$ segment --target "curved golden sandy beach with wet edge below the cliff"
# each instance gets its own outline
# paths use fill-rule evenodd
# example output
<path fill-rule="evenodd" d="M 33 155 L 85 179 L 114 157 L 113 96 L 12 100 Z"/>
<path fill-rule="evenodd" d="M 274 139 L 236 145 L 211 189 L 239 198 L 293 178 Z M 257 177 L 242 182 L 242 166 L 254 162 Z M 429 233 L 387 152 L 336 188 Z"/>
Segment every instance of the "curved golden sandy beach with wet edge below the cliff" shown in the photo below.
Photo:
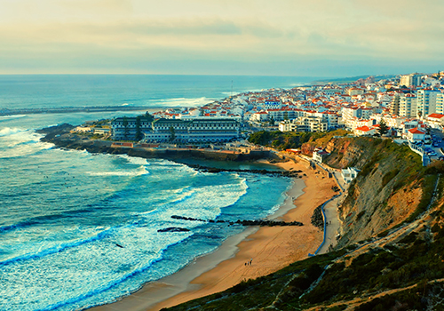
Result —
<path fill-rule="evenodd" d="M 301 221 L 303 227 L 250 227 L 241 235 L 228 238 L 218 251 L 194 260 L 178 273 L 147 283 L 140 291 L 115 303 L 91 310 L 141 311 L 176 306 L 225 291 L 243 280 L 269 275 L 316 251 L 322 242 L 322 232 L 313 227 L 310 218 L 317 206 L 335 195 L 331 189 L 336 185 L 335 180 L 322 178 L 324 175 L 315 173 L 303 161 L 275 165 L 304 171 L 306 176 L 294 180 L 287 192 L 288 199 L 270 218 Z M 251 259 L 251 265 L 246 266 Z"/>

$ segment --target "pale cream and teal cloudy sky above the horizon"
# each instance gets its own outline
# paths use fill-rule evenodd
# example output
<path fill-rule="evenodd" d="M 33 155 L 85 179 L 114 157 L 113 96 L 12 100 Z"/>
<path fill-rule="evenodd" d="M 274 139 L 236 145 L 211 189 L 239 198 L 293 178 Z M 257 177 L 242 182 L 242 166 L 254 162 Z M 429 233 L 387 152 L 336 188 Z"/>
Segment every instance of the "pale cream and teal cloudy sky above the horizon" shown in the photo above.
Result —
<path fill-rule="evenodd" d="M 0 74 L 439 70 L 442 0 L 0 0 Z"/>

